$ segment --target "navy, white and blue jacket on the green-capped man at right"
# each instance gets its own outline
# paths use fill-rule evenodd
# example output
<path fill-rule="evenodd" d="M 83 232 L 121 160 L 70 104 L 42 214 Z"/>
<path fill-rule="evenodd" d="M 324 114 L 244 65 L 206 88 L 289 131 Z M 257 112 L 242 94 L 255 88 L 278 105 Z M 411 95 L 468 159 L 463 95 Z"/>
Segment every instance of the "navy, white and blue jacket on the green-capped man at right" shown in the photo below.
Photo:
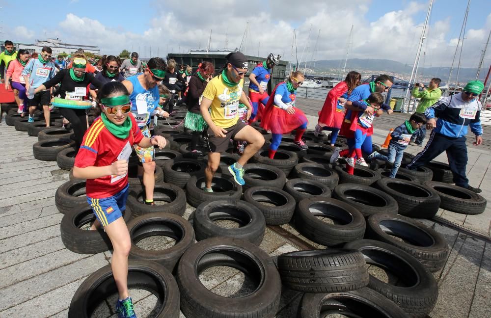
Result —
<path fill-rule="evenodd" d="M 477 99 L 464 102 L 462 93 L 443 97 L 425 111 L 427 119 L 438 117 L 436 132 L 452 138 L 460 138 L 467 134 L 467 126 L 475 135 L 482 135 L 482 105 Z M 472 118 L 473 117 L 473 118 Z"/>

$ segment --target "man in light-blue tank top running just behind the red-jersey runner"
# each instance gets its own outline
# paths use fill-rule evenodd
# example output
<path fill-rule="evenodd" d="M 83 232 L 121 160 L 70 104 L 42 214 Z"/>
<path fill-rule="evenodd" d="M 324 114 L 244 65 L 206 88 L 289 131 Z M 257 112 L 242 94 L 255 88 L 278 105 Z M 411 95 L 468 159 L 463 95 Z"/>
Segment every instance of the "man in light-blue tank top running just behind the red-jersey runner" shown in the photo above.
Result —
<path fill-rule="evenodd" d="M 151 137 L 148 125 L 152 112 L 159 107 L 159 83 L 165 77 L 166 65 L 162 58 L 152 57 L 143 73 L 131 76 L 123 80 L 128 89 L 132 103 L 131 112 L 136 124 L 145 137 Z M 154 205 L 153 191 L 155 187 L 155 158 L 154 147 L 140 148 L 134 146 L 136 155 L 143 166 L 143 185 L 145 186 L 145 204 Z M 141 168 L 138 167 L 138 176 L 141 176 Z"/>

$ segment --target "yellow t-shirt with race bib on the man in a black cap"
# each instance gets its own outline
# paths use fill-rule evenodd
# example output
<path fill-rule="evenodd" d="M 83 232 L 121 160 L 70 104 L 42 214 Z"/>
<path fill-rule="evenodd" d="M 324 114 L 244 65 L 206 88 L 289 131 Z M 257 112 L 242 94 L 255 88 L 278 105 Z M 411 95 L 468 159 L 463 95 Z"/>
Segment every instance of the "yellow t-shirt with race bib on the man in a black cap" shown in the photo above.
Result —
<path fill-rule="evenodd" d="M 237 123 L 239 120 L 237 110 L 239 109 L 239 100 L 244 93 L 243 87 L 244 79 L 241 79 L 239 85 L 228 87 L 223 83 L 221 75 L 208 82 L 203 96 L 212 101 L 211 117 L 215 125 L 229 128 Z"/>

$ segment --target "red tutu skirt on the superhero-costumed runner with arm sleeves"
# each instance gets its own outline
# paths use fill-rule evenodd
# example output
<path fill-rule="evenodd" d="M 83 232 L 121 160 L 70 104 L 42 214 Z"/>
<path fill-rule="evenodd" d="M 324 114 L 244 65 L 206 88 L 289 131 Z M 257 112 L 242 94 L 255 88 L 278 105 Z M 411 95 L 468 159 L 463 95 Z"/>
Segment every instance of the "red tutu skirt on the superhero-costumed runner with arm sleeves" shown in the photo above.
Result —
<path fill-rule="evenodd" d="M 263 113 L 261 127 L 272 133 L 288 133 L 299 126 L 308 123 L 307 117 L 300 108 L 294 108 L 295 114 L 291 115 L 279 107 L 273 106 Z"/>

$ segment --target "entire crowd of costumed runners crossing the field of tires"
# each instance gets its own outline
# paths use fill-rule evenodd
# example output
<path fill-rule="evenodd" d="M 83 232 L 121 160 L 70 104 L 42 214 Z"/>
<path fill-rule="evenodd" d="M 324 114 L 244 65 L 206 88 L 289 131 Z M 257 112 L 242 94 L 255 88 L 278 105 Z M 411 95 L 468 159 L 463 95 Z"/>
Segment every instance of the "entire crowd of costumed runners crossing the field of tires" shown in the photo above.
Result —
<path fill-rule="evenodd" d="M 73 175 L 87 179 L 87 201 L 97 217 L 91 230 L 103 226 L 114 248 L 111 266 L 119 292 L 119 317 L 136 317 L 127 288 L 131 241 L 121 213 L 129 191 L 128 159 L 134 150 L 141 162 L 139 175 L 145 187 L 145 203 L 153 205 L 154 146 L 162 148 L 166 144 L 164 137 L 151 133 L 154 116 L 169 116 L 176 104 L 188 107 L 184 126 L 191 132 L 191 152 L 199 152 L 197 145 L 203 139 L 209 148 L 203 191 L 213 191 L 220 154 L 229 148 L 231 140 L 236 141 L 241 157 L 228 170 L 238 184 L 244 185 L 243 166 L 265 143 L 263 134 L 251 125 L 255 121 L 272 133 L 270 159 L 274 159 L 282 135 L 292 131 L 294 144 L 308 149 L 302 140 L 307 116 L 296 105 L 297 88 L 304 75 L 292 72 L 271 94 L 267 92 L 280 58 L 271 53 L 250 69 L 246 56 L 233 52 L 226 56 L 224 65 L 204 61 L 193 69 L 160 57 L 143 63 L 135 52 L 124 60 L 114 55 L 88 59 L 83 50 L 65 59 L 53 56 L 49 47 L 31 54 L 15 51 L 13 43 L 5 41 L 5 51 L 0 54 L 1 80 L 5 89 L 14 90 L 21 116 L 28 116 L 31 122 L 34 111 L 41 107 L 49 127 L 52 98 L 67 101 L 65 106 L 57 106 L 74 131 L 78 154 Z M 244 76 L 249 71 L 246 94 Z M 428 87 L 414 87 L 411 94 L 421 99 L 420 105 L 409 120 L 395 123 L 398 126 L 391 134 L 387 156 L 372 151 L 371 137 L 376 118 L 383 112 L 392 113 L 382 96 L 393 84 L 386 75 L 361 84 L 361 75 L 350 72 L 328 92 L 315 134 L 330 131 L 331 146 L 338 134 L 346 136 L 349 148 L 335 148 L 331 162 L 344 158 L 348 173 L 353 174 L 356 165 L 367 166 L 365 159 L 381 159 L 393 164 L 390 177 L 394 178 L 408 145 L 423 146 L 426 127 L 432 131 L 429 140 L 407 168 L 417 169 L 446 151 L 455 184 L 478 193 L 481 190 L 470 186 L 465 176 L 465 135 L 470 127 L 475 134 L 474 144 L 482 143 L 478 96 L 484 85 L 473 80 L 461 93 L 441 98 L 439 83 L 440 79 L 435 78 Z M 74 107 L 74 101 L 81 103 Z M 90 103 L 82 103 L 86 101 Z M 100 114 L 90 127 L 88 107 Z"/>

